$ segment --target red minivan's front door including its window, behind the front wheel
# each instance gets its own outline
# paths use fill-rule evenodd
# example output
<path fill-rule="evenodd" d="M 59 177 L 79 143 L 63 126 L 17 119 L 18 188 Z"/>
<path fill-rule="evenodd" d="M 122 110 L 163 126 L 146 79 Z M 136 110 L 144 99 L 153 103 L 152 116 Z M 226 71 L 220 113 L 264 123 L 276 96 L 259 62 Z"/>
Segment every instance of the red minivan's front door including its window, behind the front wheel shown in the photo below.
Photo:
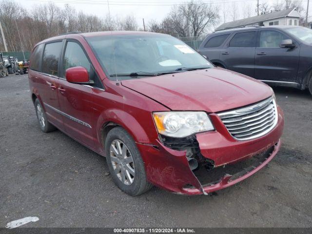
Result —
<path fill-rule="evenodd" d="M 91 74 L 92 66 L 84 51 L 75 41 L 67 41 L 62 59 L 62 77 L 59 79 L 59 105 L 64 113 L 65 131 L 81 143 L 94 147 L 96 136 L 93 129 L 93 88 L 89 85 L 69 83 L 65 71 L 82 66 Z"/>

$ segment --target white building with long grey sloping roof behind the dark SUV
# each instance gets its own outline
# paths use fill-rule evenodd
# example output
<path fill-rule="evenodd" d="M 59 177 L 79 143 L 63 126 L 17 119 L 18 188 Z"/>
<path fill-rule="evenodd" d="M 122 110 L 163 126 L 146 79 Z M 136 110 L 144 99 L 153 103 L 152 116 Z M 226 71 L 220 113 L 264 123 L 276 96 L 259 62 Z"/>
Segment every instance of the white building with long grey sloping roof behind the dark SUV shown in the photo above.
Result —
<path fill-rule="evenodd" d="M 246 26 L 271 26 L 271 25 L 299 25 L 300 14 L 296 8 L 287 9 L 283 11 L 275 11 L 265 15 L 254 16 L 243 20 L 235 20 L 221 24 L 215 31 L 240 28 Z"/>

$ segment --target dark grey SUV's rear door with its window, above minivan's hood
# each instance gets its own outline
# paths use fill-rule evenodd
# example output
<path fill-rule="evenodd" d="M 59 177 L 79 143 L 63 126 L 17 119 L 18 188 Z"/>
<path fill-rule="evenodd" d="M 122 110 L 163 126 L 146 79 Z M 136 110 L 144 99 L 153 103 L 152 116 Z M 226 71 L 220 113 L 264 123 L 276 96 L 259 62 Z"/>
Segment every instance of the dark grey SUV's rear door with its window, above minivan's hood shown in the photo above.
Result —
<path fill-rule="evenodd" d="M 256 31 L 240 32 L 230 39 L 220 55 L 227 69 L 254 77 L 256 35 Z"/>

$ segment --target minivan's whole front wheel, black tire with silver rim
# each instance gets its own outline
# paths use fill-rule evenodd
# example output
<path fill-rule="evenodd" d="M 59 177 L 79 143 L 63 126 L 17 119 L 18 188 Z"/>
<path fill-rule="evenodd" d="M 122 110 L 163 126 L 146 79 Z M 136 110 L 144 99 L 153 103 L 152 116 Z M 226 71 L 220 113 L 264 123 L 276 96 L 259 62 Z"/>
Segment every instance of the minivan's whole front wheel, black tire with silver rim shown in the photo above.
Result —
<path fill-rule="evenodd" d="M 118 142 L 120 143 L 120 148 L 118 147 Z M 115 146 L 117 151 L 112 148 L 112 145 Z M 122 151 L 124 150 L 124 156 L 116 154 L 118 153 L 118 148 L 122 149 Z M 153 187 L 146 179 L 144 162 L 137 145 L 126 130 L 121 127 L 115 127 L 108 132 L 105 140 L 105 153 L 110 174 L 121 191 L 136 196 L 145 193 Z"/>

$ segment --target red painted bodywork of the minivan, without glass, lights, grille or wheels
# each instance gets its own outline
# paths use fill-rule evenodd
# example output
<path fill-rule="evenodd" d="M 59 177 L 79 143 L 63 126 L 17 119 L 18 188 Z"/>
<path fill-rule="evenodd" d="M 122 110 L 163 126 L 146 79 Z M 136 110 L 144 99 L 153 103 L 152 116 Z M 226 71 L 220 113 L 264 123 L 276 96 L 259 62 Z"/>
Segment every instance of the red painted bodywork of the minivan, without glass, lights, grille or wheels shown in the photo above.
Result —
<path fill-rule="evenodd" d="M 112 34 L 123 33 L 133 32 Z M 141 33 L 145 32 L 133 34 Z M 272 96 L 273 92 L 269 86 L 253 78 L 219 68 L 180 72 L 175 76 L 163 75 L 124 80 L 117 85 L 116 81 L 106 77 L 84 39 L 95 35 L 111 35 L 111 33 L 63 35 L 53 39 L 77 40 L 92 62 L 105 90 L 69 83 L 65 79 L 48 77 L 29 70 L 31 92 L 39 98 L 42 105 L 47 103 L 91 126 L 88 128 L 74 122 L 43 105 L 48 120 L 61 131 L 104 156 L 103 126 L 110 122 L 116 123 L 137 142 L 150 182 L 169 191 L 189 195 L 201 194 L 203 191 L 208 193 L 231 186 L 253 175 L 276 155 L 284 125 L 280 108 L 278 108 L 278 123 L 270 133 L 246 141 L 237 141 L 231 137 L 215 114 L 218 111 L 245 106 Z M 43 42 L 50 40 L 52 39 Z M 68 69 L 66 79 L 71 82 L 78 82 L 78 79 L 85 82 L 86 77 L 82 70 Z M 247 175 L 230 182 L 224 178 L 219 184 L 202 188 L 189 168 L 185 152 L 169 149 L 159 141 L 152 112 L 170 110 L 201 110 L 210 113 L 215 131 L 196 134 L 196 137 L 202 155 L 215 160 L 216 165 L 234 162 L 273 146 L 277 142 L 278 144 L 265 163 Z M 157 146 L 157 149 L 153 146 Z M 192 184 L 195 189 L 183 189 L 186 184 Z"/>

